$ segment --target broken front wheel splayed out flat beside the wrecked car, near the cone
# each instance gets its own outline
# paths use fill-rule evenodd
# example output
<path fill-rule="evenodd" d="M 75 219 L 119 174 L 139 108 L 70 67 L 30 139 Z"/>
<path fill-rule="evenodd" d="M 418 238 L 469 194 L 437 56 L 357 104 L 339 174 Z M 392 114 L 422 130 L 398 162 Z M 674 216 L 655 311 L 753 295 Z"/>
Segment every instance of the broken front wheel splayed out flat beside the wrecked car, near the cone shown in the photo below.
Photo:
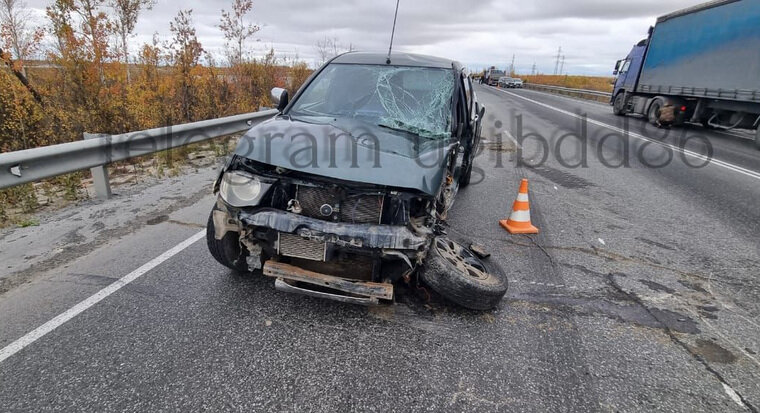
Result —
<path fill-rule="evenodd" d="M 433 240 L 420 278 L 447 300 L 472 310 L 496 307 L 509 287 L 496 263 L 480 260 L 446 237 Z"/>

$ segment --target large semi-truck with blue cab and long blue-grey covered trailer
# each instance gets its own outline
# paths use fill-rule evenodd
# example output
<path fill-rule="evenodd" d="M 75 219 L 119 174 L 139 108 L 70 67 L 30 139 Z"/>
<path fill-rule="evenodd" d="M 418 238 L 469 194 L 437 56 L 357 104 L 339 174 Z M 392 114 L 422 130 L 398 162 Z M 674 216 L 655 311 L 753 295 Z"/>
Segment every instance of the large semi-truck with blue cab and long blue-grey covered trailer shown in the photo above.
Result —
<path fill-rule="evenodd" d="M 610 104 L 660 126 L 756 130 L 760 149 L 760 1 L 718 0 L 657 19 L 615 65 Z M 667 109 L 667 110 L 664 110 Z"/>

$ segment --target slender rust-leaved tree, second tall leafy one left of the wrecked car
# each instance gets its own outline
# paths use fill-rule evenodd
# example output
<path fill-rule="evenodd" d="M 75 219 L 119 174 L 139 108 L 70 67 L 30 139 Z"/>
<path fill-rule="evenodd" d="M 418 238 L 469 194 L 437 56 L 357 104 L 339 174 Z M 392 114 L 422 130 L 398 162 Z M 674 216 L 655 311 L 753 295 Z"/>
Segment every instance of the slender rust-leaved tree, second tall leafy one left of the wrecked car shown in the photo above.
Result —
<path fill-rule="evenodd" d="M 169 23 L 172 33 L 170 55 L 176 71 L 178 101 L 182 119 L 190 122 L 193 119 L 194 97 L 192 70 L 198 66 L 203 46 L 195 34 L 192 20 L 192 9 L 181 10 L 174 21 Z"/>

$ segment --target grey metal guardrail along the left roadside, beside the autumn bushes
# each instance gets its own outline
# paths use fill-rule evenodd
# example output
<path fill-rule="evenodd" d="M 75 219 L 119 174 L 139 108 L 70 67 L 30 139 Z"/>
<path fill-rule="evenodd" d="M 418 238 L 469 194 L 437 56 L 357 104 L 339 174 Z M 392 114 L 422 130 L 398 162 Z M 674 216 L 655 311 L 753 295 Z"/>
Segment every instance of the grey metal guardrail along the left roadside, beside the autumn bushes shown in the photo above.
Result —
<path fill-rule="evenodd" d="M 95 192 L 109 198 L 106 165 L 244 132 L 277 110 L 148 129 L 120 135 L 84 134 L 84 140 L 0 154 L 0 189 L 91 168 Z"/>

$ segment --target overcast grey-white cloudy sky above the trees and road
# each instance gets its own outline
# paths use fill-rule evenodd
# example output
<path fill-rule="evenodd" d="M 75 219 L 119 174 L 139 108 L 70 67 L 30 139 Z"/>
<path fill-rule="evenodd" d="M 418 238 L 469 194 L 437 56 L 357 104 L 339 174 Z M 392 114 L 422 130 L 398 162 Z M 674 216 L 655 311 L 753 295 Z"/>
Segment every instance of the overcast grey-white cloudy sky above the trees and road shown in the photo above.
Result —
<path fill-rule="evenodd" d="M 44 23 L 52 0 L 27 0 Z M 535 63 L 553 73 L 562 47 L 565 72 L 608 75 L 617 59 L 646 36 L 659 15 L 693 6 L 700 0 L 401 0 L 394 49 L 449 57 L 471 70 L 508 67 L 515 56 L 520 73 Z M 169 21 L 182 9 L 193 20 L 204 48 L 218 59 L 224 51 L 219 31 L 229 1 L 158 0 L 140 18 L 133 48 L 153 33 L 169 39 Z M 261 55 L 274 47 L 281 57 L 316 61 L 316 43 L 324 38 L 353 44 L 359 50 L 387 50 L 394 0 L 255 0 L 249 15 L 261 26 L 249 48 Z"/>

